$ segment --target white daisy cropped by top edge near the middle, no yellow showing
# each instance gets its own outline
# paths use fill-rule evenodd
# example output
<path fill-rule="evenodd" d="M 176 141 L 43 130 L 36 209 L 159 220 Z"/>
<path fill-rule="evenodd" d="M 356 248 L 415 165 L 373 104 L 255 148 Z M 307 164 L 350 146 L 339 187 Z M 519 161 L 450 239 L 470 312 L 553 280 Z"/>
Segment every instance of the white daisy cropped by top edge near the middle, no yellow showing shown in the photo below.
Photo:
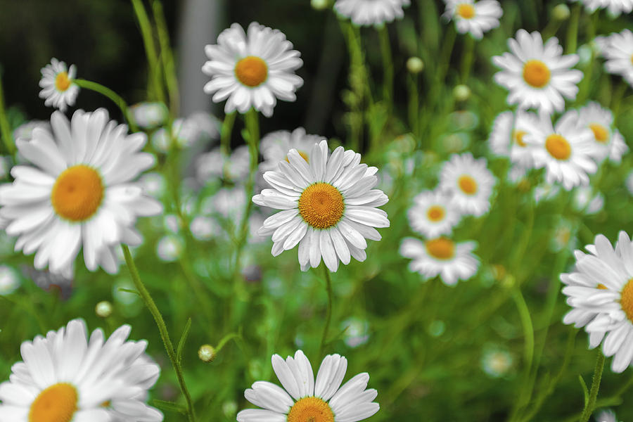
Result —
<path fill-rule="evenodd" d="M 334 10 L 356 25 L 381 25 L 404 17 L 410 0 L 336 0 Z"/>

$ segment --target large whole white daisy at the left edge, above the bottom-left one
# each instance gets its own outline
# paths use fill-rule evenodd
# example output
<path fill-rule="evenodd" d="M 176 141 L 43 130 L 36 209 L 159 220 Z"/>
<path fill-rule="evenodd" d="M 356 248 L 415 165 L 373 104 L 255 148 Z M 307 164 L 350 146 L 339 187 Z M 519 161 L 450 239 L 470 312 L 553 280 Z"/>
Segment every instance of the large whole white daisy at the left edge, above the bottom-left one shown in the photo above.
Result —
<path fill-rule="evenodd" d="M 0 186 L 6 233 L 18 237 L 15 250 L 35 252 L 37 269 L 67 272 L 83 245 L 89 270 L 115 273 L 115 247 L 141 243 L 136 217 L 162 211 L 133 182 L 154 165 L 153 155 L 139 152 L 146 135 L 128 135 L 105 109 L 77 110 L 72 122 L 56 111 L 51 125 L 52 132 L 34 129 L 31 141 L 16 142 L 33 166 L 13 167 L 13 183 Z"/>

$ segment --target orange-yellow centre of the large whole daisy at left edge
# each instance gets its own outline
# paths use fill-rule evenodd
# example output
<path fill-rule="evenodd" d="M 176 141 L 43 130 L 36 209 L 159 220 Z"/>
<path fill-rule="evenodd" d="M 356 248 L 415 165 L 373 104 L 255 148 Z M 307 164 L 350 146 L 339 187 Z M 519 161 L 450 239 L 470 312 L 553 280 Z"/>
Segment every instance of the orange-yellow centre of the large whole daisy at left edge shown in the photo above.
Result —
<path fill-rule="evenodd" d="M 72 222 L 92 217 L 102 200 L 101 176 L 92 167 L 82 164 L 64 170 L 51 192 L 51 203 L 57 215 Z"/>

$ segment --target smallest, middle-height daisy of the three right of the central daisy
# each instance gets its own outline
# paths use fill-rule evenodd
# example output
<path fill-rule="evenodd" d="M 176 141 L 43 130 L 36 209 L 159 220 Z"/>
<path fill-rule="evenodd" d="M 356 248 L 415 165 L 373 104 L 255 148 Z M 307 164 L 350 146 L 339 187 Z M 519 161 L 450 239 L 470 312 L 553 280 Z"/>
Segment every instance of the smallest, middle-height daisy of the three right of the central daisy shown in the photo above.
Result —
<path fill-rule="evenodd" d="M 440 234 L 451 234 L 461 219 L 461 213 L 452 205 L 449 196 L 436 190 L 419 193 L 407 217 L 411 229 L 428 238 L 435 238 Z"/>

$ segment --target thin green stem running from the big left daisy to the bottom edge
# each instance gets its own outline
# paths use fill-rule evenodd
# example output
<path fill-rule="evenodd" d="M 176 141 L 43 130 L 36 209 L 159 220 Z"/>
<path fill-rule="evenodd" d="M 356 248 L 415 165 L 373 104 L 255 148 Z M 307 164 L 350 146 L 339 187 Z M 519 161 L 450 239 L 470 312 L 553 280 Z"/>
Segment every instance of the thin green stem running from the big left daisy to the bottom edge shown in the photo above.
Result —
<path fill-rule="evenodd" d="M 127 245 L 121 245 L 123 250 L 123 256 L 125 257 L 125 263 L 127 264 L 127 268 L 129 269 L 129 274 L 132 276 L 132 281 L 134 281 L 134 286 L 136 286 L 136 290 L 138 290 L 141 299 L 143 299 L 143 303 L 145 303 L 147 309 L 149 309 L 150 313 L 154 317 L 154 321 L 156 322 L 156 326 L 158 326 L 158 331 L 160 332 L 160 338 L 162 338 L 162 343 L 165 345 L 165 350 L 167 351 L 167 355 L 170 357 L 170 361 L 172 362 L 172 366 L 174 367 L 174 371 L 176 371 L 176 377 L 178 378 L 178 383 L 180 385 L 180 390 L 185 397 L 187 402 L 187 416 L 189 422 L 196 421 L 196 411 L 193 409 L 193 402 L 191 401 L 191 395 L 187 390 L 187 385 L 184 381 L 184 376 L 182 373 L 182 368 L 178 363 L 176 357 L 176 350 L 174 349 L 174 345 L 172 344 L 172 340 L 170 338 L 170 333 L 167 331 L 167 325 L 165 325 L 165 320 L 162 319 L 162 314 L 158 310 L 154 300 L 152 299 L 149 291 L 141 281 L 141 276 L 139 276 L 139 270 L 136 269 L 136 264 L 134 264 L 134 259 L 132 259 L 132 255 L 129 253 L 129 248 Z"/>

